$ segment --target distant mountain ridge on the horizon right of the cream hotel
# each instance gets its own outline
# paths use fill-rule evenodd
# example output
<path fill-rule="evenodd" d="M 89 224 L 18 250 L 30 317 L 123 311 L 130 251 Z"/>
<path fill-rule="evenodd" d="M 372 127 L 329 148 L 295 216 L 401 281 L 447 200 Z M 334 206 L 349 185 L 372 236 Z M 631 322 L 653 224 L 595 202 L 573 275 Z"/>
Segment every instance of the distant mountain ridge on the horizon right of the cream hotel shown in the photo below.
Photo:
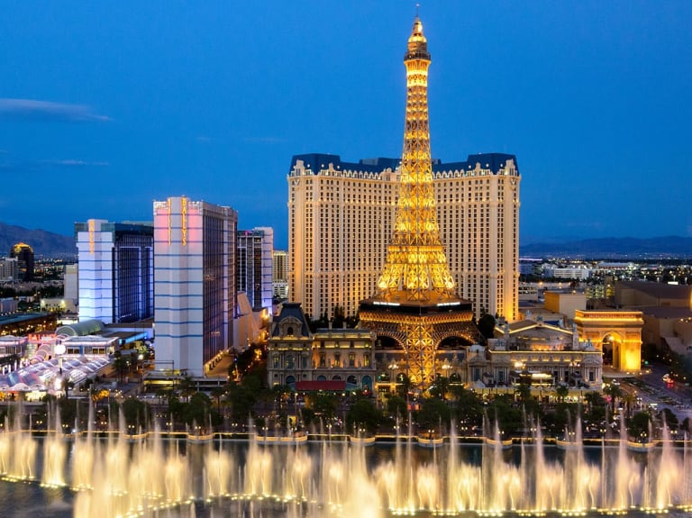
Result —
<path fill-rule="evenodd" d="M 521 256 L 588 259 L 692 258 L 692 238 L 597 238 L 565 242 L 533 242 L 519 245 Z"/>

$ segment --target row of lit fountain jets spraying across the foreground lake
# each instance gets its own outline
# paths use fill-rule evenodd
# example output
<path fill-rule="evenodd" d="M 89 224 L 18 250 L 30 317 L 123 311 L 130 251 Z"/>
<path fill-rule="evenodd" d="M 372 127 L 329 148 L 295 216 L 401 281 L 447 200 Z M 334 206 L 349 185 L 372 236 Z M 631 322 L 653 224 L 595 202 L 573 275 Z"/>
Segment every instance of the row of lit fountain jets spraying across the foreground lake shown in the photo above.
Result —
<path fill-rule="evenodd" d="M 561 451 L 543 444 L 540 427 L 512 450 L 499 436 L 470 447 L 453 433 L 444 447 L 423 450 L 404 439 L 366 449 L 330 441 L 186 444 L 159 432 L 135 443 L 117 432 L 32 438 L 18 426 L 6 423 L 0 432 L 2 484 L 71 487 L 77 518 L 166 516 L 171 509 L 187 516 L 196 509 L 190 503 L 214 516 L 683 515 L 692 501 L 692 459 L 669 435 L 645 453 L 622 439 L 587 450 L 578 435 Z M 480 461 L 465 459 L 469 451 Z"/>

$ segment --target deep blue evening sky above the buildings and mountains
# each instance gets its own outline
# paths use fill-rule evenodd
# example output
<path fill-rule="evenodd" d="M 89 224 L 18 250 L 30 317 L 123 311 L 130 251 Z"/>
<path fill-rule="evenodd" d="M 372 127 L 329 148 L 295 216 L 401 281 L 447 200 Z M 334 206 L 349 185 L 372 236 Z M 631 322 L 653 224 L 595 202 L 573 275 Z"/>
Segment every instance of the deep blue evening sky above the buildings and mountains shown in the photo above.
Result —
<path fill-rule="evenodd" d="M 188 195 L 287 246 L 291 157 L 401 154 L 414 2 L 5 1 L 0 221 Z M 517 156 L 521 242 L 692 236 L 692 2 L 422 2 L 432 154 Z"/>

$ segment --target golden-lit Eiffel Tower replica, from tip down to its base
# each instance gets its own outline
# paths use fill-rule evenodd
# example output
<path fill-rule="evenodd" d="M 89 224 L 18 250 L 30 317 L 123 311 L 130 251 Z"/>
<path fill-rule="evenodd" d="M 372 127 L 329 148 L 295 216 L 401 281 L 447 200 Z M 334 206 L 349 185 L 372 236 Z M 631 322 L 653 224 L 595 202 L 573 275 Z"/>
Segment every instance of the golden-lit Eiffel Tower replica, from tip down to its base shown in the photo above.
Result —
<path fill-rule="evenodd" d="M 437 222 L 428 123 L 430 61 L 423 23 L 416 16 L 404 57 L 406 120 L 394 235 L 377 293 L 359 308 L 360 326 L 403 348 L 409 380 L 422 389 L 439 373 L 435 356 L 443 340 L 478 340 L 472 304 L 455 292 Z"/>

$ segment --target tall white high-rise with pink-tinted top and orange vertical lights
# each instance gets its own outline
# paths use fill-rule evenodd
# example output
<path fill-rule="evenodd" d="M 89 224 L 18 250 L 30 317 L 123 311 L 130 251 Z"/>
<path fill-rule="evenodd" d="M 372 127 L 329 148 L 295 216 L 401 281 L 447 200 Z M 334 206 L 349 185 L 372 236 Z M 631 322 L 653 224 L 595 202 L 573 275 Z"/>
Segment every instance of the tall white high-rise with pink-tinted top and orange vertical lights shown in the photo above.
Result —
<path fill-rule="evenodd" d="M 158 368 L 204 376 L 232 347 L 238 214 L 186 196 L 154 202 Z"/>

